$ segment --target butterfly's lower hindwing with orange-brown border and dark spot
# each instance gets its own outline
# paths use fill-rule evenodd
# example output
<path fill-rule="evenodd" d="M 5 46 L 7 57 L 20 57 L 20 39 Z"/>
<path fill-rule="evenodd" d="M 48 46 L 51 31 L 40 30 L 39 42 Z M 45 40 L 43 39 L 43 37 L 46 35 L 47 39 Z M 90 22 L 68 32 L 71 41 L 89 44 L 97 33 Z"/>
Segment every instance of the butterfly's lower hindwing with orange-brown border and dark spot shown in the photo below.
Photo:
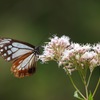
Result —
<path fill-rule="evenodd" d="M 27 53 L 13 62 L 11 71 L 15 77 L 22 78 L 32 75 L 36 70 L 36 56 L 32 53 Z"/>

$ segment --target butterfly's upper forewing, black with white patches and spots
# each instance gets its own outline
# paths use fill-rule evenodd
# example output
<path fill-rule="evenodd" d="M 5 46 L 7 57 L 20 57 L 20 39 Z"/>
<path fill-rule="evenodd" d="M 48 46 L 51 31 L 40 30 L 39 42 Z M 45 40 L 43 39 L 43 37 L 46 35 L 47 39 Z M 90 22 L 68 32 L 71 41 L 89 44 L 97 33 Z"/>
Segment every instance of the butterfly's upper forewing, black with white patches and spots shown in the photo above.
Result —
<path fill-rule="evenodd" d="M 15 60 L 26 53 L 33 52 L 34 49 L 35 46 L 25 42 L 7 38 L 0 39 L 0 54 L 6 61 Z"/>

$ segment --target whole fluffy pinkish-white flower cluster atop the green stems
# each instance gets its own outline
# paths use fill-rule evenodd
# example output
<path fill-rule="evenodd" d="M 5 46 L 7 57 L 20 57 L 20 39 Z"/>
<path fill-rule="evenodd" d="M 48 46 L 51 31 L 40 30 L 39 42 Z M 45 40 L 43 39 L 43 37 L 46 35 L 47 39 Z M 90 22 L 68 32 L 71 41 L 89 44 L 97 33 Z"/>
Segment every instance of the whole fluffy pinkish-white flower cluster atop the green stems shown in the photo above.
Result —
<path fill-rule="evenodd" d="M 100 65 L 100 44 L 79 44 L 70 41 L 67 36 L 53 36 L 50 42 L 43 46 L 43 54 L 39 56 L 42 62 L 54 60 L 59 66 L 71 73 L 74 70 L 87 69 L 90 72 Z"/>

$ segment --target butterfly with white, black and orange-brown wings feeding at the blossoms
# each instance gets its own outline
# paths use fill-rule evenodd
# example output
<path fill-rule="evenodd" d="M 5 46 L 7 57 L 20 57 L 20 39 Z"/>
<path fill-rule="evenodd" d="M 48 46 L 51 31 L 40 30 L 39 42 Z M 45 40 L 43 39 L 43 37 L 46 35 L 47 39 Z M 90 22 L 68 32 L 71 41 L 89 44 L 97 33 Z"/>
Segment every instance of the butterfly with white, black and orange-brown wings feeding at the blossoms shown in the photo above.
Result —
<path fill-rule="evenodd" d="M 0 38 L 0 55 L 6 61 L 12 61 L 11 71 L 15 77 L 30 76 L 36 71 L 39 46 L 10 38 Z"/>

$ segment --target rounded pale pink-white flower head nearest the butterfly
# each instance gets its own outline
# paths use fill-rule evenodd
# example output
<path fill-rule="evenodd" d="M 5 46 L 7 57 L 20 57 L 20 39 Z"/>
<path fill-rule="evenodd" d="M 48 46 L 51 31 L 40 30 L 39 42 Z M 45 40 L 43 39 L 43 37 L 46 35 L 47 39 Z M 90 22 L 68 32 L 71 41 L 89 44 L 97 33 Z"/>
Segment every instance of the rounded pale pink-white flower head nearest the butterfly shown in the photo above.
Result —
<path fill-rule="evenodd" d="M 70 46 L 69 37 L 67 36 L 62 36 L 61 38 L 54 36 L 50 40 L 43 46 L 43 54 L 39 57 L 42 62 L 49 60 L 59 61 L 64 50 Z"/>

